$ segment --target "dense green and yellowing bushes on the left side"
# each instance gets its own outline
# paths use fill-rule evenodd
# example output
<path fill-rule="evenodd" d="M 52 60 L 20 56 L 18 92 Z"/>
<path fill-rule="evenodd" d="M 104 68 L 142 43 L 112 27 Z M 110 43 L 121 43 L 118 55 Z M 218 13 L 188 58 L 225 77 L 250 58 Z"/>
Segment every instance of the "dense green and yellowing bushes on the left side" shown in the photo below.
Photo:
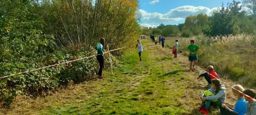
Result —
<path fill-rule="evenodd" d="M 101 37 L 110 49 L 124 47 L 137 38 L 138 7 L 138 0 L 1 0 L 0 76 L 94 55 Z M 20 94 L 48 95 L 88 80 L 97 66 L 89 58 L 2 78 L 0 102 L 10 104 Z"/>

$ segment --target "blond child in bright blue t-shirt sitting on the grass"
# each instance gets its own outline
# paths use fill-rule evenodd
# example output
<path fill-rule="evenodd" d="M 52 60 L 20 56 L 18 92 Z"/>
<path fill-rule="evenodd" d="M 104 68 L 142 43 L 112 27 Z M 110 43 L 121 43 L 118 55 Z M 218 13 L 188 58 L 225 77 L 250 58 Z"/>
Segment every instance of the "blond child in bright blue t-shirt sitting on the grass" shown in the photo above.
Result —
<path fill-rule="evenodd" d="M 241 85 L 235 85 L 233 88 L 243 92 L 244 88 Z M 225 108 L 226 111 L 221 113 L 221 115 L 245 115 L 246 114 L 246 105 L 247 101 L 244 98 L 244 95 L 242 93 L 239 93 L 237 90 L 232 88 L 232 92 L 237 97 L 237 102 L 235 105 L 230 104 L 229 102 L 226 102 L 225 104 L 222 104 L 222 108 Z M 230 108 L 233 107 L 234 109 Z"/>

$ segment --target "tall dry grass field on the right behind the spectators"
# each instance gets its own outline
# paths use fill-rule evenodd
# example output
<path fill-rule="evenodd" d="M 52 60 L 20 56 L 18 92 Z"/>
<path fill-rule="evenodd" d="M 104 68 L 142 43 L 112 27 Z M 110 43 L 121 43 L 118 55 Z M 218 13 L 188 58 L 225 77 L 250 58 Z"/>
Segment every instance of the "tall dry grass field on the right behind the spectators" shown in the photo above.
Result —
<path fill-rule="evenodd" d="M 174 44 L 176 38 L 168 38 L 166 44 Z M 256 88 L 256 38 L 249 35 L 229 37 L 179 38 L 179 51 L 188 55 L 189 40 L 196 40 L 200 46 L 199 64 L 205 68 L 213 65 L 222 78 L 229 78 L 238 84 Z"/>

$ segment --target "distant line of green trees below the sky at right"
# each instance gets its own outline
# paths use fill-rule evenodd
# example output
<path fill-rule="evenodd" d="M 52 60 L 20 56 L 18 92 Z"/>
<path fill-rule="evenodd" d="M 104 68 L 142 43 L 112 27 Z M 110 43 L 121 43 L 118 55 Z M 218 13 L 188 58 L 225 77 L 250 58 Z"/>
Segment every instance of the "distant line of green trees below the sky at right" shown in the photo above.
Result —
<path fill-rule="evenodd" d="M 232 3 L 218 7 L 210 16 L 200 13 L 196 16 L 187 16 L 183 24 L 164 25 L 156 28 L 141 28 L 141 34 L 161 34 L 168 37 L 181 35 L 190 37 L 204 34 L 208 37 L 229 36 L 241 33 L 256 33 L 256 0 L 233 0 Z M 242 9 L 245 7 L 246 9 Z"/>

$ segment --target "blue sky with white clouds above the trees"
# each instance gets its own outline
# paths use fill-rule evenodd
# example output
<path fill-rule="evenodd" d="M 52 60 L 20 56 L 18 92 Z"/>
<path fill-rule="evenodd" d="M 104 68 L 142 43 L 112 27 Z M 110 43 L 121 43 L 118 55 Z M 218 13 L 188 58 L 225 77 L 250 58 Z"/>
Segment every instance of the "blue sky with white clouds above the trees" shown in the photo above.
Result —
<path fill-rule="evenodd" d="M 141 26 L 156 27 L 161 22 L 167 24 L 184 23 L 186 16 L 206 13 L 211 15 L 222 1 L 226 4 L 233 0 L 139 0 L 142 15 Z M 242 0 L 236 0 L 242 1 Z"/>

